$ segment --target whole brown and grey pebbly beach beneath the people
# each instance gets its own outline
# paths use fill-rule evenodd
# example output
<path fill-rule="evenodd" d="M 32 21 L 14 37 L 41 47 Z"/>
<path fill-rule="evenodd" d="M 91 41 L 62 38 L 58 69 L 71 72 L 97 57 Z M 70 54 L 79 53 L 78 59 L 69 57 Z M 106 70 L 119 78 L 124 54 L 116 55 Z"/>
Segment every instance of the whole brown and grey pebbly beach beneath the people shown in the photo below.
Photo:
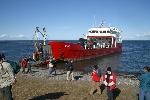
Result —
<path fill-rule="evenodd" d="M 66 72 L 57 70 L 57 75 L 48 77 L 48 69 L 33 68 L 33 73 L 17 74 L 13 86 L 14 100 L 107 100 L 106 90 L 99 95 L 90 95 L 90 74 L 74 72 L 74 81 L 66 80 Z M 116 100 L 137 100 L 139 81 L 132 75 L 117 76 L 120 94 Z"/>

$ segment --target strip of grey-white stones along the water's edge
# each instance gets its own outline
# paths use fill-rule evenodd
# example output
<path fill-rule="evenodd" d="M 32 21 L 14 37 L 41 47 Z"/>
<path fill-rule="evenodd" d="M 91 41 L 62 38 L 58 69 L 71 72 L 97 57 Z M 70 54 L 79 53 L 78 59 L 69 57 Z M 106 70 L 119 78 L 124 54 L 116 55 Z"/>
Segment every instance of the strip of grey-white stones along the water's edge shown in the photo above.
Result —
<path fill-rule="evenodd" d="M 27 77 L 36 77 L 36 78 L 42 78 L 42 79 L 48 79 L 48 80 L 66 80 L 66 71 L 62 69 L 56 70 L 56 75 L 54 77 L 48 77 L 48 69 L 45 68 L 32 68 L 33 73 L 30 74 L 23 74 Z M 20 73 L 21 75 L 21 73 Z M 74 71 L 74 77 L 75 80 L 85 80 L 90 81 L 90 73 L 84 73 L 80 71 Z M 117 84 L 124 84 L 124 85 L 130 85 L 130 86 L 139 86 L 139 81 L 134 75 L 131 74 L 117 74 Z"/>

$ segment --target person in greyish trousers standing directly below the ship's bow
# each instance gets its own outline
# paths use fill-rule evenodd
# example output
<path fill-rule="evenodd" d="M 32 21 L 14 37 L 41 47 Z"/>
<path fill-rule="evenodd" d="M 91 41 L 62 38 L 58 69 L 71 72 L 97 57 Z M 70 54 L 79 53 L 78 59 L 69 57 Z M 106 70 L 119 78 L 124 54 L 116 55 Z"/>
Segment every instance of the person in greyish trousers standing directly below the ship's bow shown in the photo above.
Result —
<path fill-rule="evenodd" d="M 56 75 L 56 60 L 55 58 L 50 59 L 48 64 L 48 76 L 53 76 L 52 73 L 55 72 L 54 75 Z"/>

